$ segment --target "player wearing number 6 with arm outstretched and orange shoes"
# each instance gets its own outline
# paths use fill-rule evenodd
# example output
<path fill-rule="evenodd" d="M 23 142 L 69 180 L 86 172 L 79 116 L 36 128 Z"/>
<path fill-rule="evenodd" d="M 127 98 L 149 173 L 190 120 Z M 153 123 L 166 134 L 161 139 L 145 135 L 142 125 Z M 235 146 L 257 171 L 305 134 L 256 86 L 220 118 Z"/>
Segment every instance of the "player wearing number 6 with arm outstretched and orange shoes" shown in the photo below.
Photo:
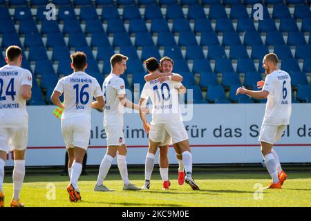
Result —
<path fill-rule="evenodd" d="M 261 142 L 261 153 L 265 159 L 267 171 L 272 177 L 272 182 L 268 189 L 281 189 L 287 175 L 282 170 L 279 157 L 273 149 L 275 142 L 281 139 L 283 132 L 290 124 L 292 113 L 292 88 L 290 85 L 290 75 L 278 68 L 278 57 L 274 53 L 269 53 L 263 58 L 263 68 L 265 68 L 265 84 L 262 90 L 247 90 L 244 87 L 236 90 L 236 95 L 243 94 L 251 97 L 265 99 L 265 116 L 261 125 L 259 142 Z"/>

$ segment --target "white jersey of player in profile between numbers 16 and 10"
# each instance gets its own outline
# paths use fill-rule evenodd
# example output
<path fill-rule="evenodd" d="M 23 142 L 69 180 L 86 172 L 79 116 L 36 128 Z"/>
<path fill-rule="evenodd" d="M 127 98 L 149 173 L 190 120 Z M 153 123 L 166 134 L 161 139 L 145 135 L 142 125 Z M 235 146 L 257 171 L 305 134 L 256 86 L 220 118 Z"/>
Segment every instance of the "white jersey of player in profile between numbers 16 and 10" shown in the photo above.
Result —
<path fill-rule="evenodd" d="M 121 77 L 111 73 L 102 86 L 104 93 L 104 126 L 123 126 L 124 106 L 120 104 L 120 95 L 125 95 L 125 84 Z"/>

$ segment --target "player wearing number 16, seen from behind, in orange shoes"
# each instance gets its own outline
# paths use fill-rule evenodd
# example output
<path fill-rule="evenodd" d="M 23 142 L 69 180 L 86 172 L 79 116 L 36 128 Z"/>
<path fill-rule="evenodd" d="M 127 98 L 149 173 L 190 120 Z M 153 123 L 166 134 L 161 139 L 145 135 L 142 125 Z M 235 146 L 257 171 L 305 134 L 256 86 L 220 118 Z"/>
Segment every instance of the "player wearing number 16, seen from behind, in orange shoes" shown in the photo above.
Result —
<path fill-rule="evenodd" d="M 51 101 L 64 109 L 62 114 L 62 135 L 68 151 L 68 174 L 70 184 L 67 187 L 69 200 L 81 200 L 77 182 L 82 171 L 82 162 L 91 133 L 91 108 L 103 108 L 104 97 L 97 79 L 85 73 L 87 68 L 84 52 L 75 52 L 70 56 L 74 73 L 59 79 Z M 64 93 L 64 104 L 59 96 Z M 93 97 L 96 101 L 93 102 Z"/>

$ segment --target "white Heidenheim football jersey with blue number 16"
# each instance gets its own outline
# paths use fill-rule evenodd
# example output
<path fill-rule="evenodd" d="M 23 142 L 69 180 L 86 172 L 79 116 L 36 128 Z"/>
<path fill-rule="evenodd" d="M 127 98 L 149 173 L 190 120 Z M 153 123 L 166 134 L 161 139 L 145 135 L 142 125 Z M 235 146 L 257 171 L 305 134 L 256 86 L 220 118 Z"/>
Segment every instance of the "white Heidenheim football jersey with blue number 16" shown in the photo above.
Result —
<path fill-rule="evenodd" d="M 80 116 L 91 119 L 93 97 L 102 96 L 97 79 L 82 71 L 59 79 L 54 90 L 64 93 L 65 108 L 62 119 Z"/>

